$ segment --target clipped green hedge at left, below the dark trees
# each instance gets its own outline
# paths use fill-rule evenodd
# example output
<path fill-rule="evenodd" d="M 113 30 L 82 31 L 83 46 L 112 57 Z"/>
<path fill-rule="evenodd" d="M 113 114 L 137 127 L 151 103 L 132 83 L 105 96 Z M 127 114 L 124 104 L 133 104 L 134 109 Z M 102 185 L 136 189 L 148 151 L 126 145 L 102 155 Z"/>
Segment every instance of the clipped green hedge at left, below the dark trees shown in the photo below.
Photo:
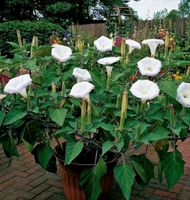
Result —
<path fill-rule="evenodd" d="M 45 20 L 41 21 L 9 21 L 0 23 L 0 51 L 2 55 L 10 54 L 11 46 L 7 42 L 17 42 L 16 30 L 21 31 L 21 36 L 26 42 L 31 42 L 32 37 L 38 37 L 39 44 L 49 43 L 52 32 L 63 34 L 64 29 Z"/>

